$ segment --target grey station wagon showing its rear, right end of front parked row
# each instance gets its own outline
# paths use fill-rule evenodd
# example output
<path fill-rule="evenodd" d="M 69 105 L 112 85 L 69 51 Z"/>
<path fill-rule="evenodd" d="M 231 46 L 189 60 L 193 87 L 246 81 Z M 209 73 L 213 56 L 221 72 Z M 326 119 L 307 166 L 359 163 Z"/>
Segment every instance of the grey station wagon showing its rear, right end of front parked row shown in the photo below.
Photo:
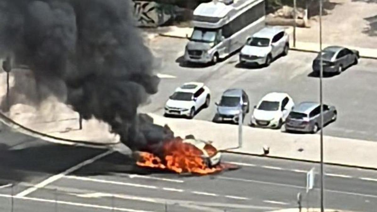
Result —
<path fill-rule="evenodd" d="M 288 115 L 285 123 L 286 131 L 301 131 L 316 133 L 320 127 L 320 104 L 317 102 L 302 102 Z M 334 106 L 323 104 L 323 124 L 335 121 L 337 111 Z"/>

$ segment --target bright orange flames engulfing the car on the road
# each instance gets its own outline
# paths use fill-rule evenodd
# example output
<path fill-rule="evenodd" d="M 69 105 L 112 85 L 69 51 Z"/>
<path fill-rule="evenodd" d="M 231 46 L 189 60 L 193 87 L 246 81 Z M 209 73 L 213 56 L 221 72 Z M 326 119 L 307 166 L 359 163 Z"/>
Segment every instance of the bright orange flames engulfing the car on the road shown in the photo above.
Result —
<path fill-rule="evenodd" d="M 222 170 L 220 165 L 208 167 L 203 152 L 196 146 L 184 143 L 181 138 L 165 141 L 163 144 L 163 160 L 149 152 L 141 152 L 138 166 L 169 169 L 177 173 L 210 174 Z M 216 148 L 206 144 L 204 150 L 209 156 L 216 154 Z"/>

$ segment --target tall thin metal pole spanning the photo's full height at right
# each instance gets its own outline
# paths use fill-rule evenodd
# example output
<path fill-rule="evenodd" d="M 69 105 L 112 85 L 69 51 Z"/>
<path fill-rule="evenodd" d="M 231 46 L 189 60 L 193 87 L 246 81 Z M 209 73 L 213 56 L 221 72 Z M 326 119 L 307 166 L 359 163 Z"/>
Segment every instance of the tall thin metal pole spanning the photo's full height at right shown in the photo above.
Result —
<path fill-rule="evenodd" d="M 319 76 L 319 100 L 321 107 L 321 131 L 320 131 L 320 148 L 321 148 L 321 163 L 320 163 L 320 172 L 321 172 L 321 212 L 324 212 L 324 199 L 323 199 L 323 89 L 322 89 L 322 77 L 323 77 L 323 59 L 322 59 L 322 0 L 319 0 L 319 49 L 320 49 L 320 76 Z"/>

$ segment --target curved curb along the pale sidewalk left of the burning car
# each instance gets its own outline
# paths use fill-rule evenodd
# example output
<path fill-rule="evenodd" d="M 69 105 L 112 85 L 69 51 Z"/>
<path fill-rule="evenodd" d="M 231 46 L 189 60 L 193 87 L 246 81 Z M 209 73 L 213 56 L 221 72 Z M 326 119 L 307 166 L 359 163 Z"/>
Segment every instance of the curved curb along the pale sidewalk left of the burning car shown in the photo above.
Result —
<path fill-rule="evenodd" d="M 66 141 L 66 142 L 71 142 L 71 143 L 75 143 L 75 144 L 84 144 L 84 145 L 91 145 L 91 146 L 98 146 L 98 147 L 104 147 L 104 146 L 109 146 L 109 145 L 120 143 L 120 142 L 117 142 L 117 143 L 112 143 L 112 144 L 104 144 L 104 143 L 95 143 L 95 142 L 90 142 L 90 141 L 80 141 L 80 140 L 72 140 L 72 139 L 67 139 L 67 138 L 55 137 L 55 136 L 52 136 L 52 135 L 48 135 L 48 134 L 45 134 L 45 133 L 42 133 L 42 132 L 35 131 L 33 129 L 30 129 L 30 128 L 27 128 L 27 127 L 15 122 L 11 118 L 7 117 L 2 112 L 0 112 L 0 121 L 2 121 L 4 124 L 6 124 L 7 126 L 9 126 L 11 128 L 14 128 L 14 126 L 12 126 L 12 125 L 15 125 L 15 126 L 18 126 L 21 129 L 25 130 L 25 131 L 31 132 L 32 134 L 37 134 L 37 135 L 40 135 L 42 137 L 51 138 L 51 139 L 58 140 L 58 141 Z"/>

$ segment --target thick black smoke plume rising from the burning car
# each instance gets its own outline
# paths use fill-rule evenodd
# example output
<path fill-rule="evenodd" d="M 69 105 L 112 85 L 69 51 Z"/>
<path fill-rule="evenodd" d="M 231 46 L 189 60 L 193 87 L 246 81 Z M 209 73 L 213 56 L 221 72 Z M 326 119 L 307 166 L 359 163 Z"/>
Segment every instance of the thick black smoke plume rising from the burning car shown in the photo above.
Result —
<path fill-rule="evenodd" d="M 11 55 L 31 68 L 38 101 L 55 95 L 83 118 L 109 123 L 124 144 L 140 150 L 173 135 L 137 115 L 159 78 L 129 2 L 0 0 L 0 58 Z"/>

